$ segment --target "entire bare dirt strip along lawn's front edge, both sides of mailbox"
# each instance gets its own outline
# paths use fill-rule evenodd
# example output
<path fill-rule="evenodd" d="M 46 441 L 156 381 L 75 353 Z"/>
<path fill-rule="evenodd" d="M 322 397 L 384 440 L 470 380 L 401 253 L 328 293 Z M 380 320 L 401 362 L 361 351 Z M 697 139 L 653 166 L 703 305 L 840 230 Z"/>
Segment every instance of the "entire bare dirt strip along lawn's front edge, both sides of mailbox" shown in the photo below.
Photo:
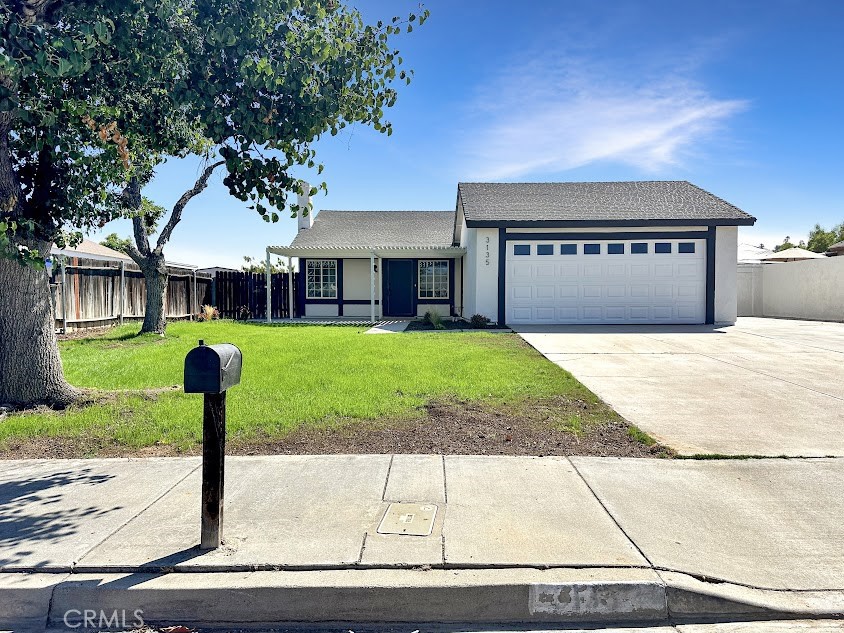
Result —
<path fill-rule="evenodd" d="M 155 393 L 146 395 L 156 396 Z M 260 432 L 248 437 L 230 434 L 226 452 L 230 455 L 673 456 L 671 449 L 631 427 L 607 405 L 565 397 L 496 405 L 436 401 L 411 420 L 340 420 L 302 426 L 280 437 Z M 9 439 L 0 448 L 0 459 L 199 454 L 199 444 L 187 450 L 168 444 L 138 448 L 120 444 L 102 434 Z"/>

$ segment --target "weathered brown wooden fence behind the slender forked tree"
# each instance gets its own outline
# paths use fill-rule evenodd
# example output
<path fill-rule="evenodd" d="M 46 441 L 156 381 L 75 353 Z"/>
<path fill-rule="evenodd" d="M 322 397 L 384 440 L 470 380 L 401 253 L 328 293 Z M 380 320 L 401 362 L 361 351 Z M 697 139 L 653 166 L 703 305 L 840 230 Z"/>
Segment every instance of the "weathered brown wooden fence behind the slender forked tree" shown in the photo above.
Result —
<path fill-rule="evenodd" d="M 82 258 L 69 258 L 66 267 L 51 271 L 53 314 L 56 328 L 64 331 L 102 327 L 126 319 L 144 318 L 146 283 L 134 262 L 121 265 Z M 184 319 L 211 302 L 212 279 L 184 268 L 169 268 L 164 299 L 167 318 Z"/>

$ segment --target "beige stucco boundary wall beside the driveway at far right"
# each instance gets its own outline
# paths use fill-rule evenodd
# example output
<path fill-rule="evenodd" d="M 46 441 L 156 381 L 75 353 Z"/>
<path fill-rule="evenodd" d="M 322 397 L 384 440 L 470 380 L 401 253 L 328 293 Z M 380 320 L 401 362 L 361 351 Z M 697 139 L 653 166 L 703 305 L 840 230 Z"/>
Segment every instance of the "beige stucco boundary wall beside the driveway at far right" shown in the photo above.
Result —
<path fill-rule="evenodd" d="M 844 321 L 844 257 L 765 264 L 761 276 L 760 316 Z"/>

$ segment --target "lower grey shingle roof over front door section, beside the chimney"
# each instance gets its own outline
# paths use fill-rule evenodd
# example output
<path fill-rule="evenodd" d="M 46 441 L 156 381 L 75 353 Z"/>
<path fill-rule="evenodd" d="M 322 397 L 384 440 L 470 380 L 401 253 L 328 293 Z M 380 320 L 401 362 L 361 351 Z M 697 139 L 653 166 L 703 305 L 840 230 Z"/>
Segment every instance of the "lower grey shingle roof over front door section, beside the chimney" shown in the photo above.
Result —
<path fill-rule="evenodd" d="M 447 247 L 454 211 L 329 211 L 317 213 L 291 248 Z"/>

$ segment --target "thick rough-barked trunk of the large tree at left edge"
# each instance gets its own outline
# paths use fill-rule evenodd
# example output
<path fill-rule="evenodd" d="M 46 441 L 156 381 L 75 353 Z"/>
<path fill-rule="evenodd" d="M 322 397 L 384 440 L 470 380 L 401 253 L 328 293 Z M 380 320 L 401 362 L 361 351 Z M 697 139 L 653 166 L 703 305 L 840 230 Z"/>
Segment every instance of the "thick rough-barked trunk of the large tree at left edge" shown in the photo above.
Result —
<path fill-rule="evenodd" d="M 49 242 L 27 242 L 46 256 Z M 65 379 L 47 272 L 0 257 L 0 404 L 64 408 L 80 393 Z"/>

